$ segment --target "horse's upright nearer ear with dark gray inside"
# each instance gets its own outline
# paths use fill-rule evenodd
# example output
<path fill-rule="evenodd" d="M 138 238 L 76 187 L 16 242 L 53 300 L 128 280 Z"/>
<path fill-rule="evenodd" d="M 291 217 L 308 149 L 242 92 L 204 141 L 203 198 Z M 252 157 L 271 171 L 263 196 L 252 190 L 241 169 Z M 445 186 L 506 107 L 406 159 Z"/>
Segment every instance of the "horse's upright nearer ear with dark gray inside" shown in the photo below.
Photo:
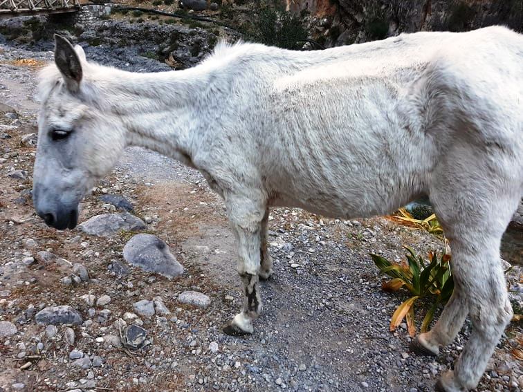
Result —
<path fill-rule="evenodd" d="M 82 65 L 75 49 L 61 35 L 55 34 L 55 64 L 69 91 L 76 92 L 82 80 Z"/>

